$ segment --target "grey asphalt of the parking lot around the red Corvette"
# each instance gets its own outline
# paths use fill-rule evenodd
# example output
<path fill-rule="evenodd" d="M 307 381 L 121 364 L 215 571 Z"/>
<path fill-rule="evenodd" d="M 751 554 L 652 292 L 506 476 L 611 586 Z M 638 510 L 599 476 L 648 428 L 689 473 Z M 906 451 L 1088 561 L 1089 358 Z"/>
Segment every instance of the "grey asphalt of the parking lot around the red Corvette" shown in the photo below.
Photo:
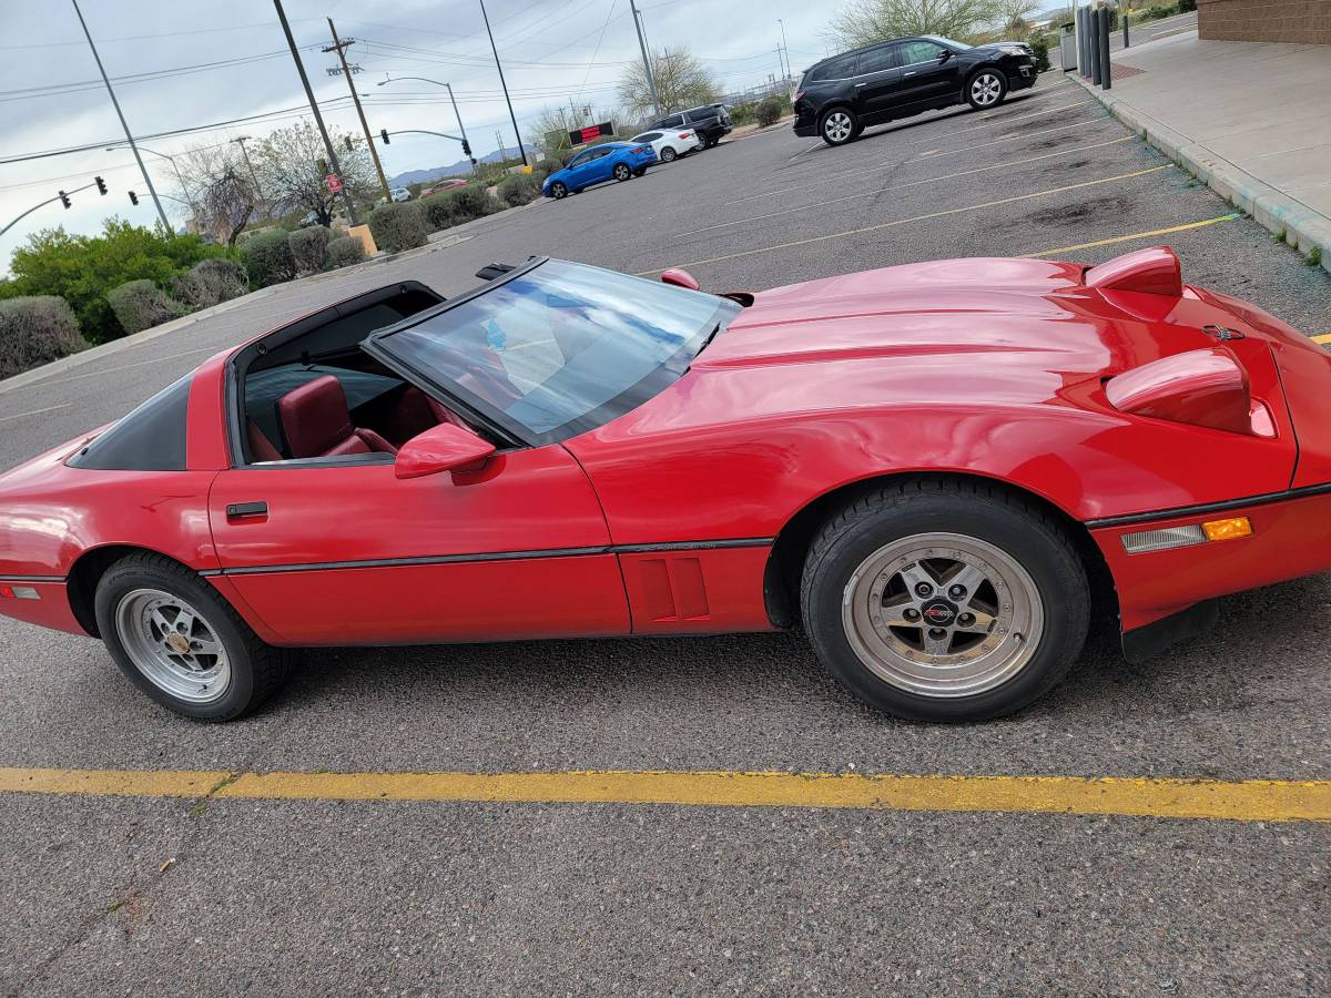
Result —
<path fill-rule="evenodd" d="M 1324 270 L 1057 73 L 985 114 L 841 149 L 779 128 L 465 234 L 0 385 L 0 467 L 302 311 L 403 278 L 455 294 L 528 254 L 725 290 L 1167 244 L 1186 281 L 1331 331 Z M 1101 631 L 1051 696 L 969 727 L 861 708 L 797 635 L 311 652 L 268 709 L 204 727 L 98 644 L 0 620 L 0 766 L 1326 781 L 1328 603 L 1326 576 L 1230 597 L 1143 665 Z M 217 790 L 0 793 L 0 828 L 4 994 L 1331 990 L 1320 822 Z"/>

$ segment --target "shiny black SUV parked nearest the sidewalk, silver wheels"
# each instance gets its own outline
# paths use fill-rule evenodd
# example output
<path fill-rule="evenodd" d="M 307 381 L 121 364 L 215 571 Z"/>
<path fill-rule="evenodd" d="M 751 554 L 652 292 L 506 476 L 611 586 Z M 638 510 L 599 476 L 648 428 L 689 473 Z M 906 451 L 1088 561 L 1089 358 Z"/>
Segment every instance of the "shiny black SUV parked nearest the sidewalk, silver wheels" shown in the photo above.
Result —
<path fill-rule="evenodd" d="M 795 134 L 843 145 L 866 125 L 966 101 L 977 110 L 1036 85 L 1036 59 L 1021 41 L 965 45 L 936 35 L 893 39 L 824 59 L 795 92 Z"/>

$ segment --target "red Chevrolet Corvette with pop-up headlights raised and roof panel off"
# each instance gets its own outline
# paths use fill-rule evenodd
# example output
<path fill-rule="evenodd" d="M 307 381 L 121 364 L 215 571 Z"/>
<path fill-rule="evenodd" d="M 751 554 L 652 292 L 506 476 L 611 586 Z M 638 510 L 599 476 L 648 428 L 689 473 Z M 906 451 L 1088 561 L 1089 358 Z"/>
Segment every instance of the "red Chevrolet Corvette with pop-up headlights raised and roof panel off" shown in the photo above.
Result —
<path fill-rule="evenodd" d="M 0 476 L 0 612 L 228 720 L 302 645 L 769 631 L 929 720 L 1331 567 L 1331 359 L 1150 249 L 405 282 Z"/>

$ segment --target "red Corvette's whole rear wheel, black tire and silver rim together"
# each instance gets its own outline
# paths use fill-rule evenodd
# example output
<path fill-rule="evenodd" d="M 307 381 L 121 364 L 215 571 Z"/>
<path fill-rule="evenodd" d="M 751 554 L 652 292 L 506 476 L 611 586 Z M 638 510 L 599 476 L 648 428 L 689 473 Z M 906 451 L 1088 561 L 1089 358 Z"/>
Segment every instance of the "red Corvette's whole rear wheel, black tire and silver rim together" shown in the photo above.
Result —
<path fill-rule="evenodd" d="M 95 612 L 120 671 L 184 717 L 244 717 L 291 669 L 290 651 L 264 644 L 208 583 L 162 555 L 130 555 L 108 568 Z"/>

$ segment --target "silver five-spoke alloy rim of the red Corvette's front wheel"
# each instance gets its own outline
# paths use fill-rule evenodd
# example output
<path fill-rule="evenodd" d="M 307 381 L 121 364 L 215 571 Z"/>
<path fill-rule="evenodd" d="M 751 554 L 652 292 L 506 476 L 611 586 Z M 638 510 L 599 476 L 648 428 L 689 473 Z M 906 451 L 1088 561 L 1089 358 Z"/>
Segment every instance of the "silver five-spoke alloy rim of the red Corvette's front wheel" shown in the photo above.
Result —
<path fill-rule="evenodd" d="M 1045 608 L 1030 574 L 1005 551 L 961 534 L 916 534 L 855 570 L 841 621 L 878 679 L 954 697 L 1021 672 L 1040 647 Z"/>

